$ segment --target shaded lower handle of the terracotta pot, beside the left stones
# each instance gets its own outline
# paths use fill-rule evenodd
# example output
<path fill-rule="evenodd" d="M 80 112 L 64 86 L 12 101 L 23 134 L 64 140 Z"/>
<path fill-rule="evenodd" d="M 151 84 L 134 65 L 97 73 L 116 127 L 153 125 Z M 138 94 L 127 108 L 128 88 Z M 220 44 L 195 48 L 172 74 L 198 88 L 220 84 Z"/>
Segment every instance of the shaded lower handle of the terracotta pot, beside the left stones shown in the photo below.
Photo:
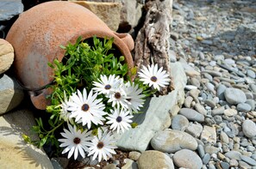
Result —
<path fill-rule="evenodd" d="M 32 101 L 35 108 L 39 110 L 46 110 L 47 106 L 51 105 L 51 100 L 47 99 L 47 96 L 52 94 L 51 88 L 46 88 L 42 90 L 42 93 L 37 95 L 32 91 L 29 91 L 30 100 Z"/>

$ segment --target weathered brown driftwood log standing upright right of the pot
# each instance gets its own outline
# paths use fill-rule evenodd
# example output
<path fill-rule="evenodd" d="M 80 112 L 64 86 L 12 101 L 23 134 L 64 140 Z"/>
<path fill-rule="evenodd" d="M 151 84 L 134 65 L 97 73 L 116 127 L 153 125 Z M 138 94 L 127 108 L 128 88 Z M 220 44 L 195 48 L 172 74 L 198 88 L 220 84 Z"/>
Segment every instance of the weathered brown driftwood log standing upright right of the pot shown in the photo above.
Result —
<path fill-rule="evenodd" d="M 147 15 L 143 27 L 135 39 L 134 65 L 158 63 L 171 75 L 168 51 L 171 36 L 172 0 L 149 0 L 145 4 Z M 172 90 L 172 85 L 161 94 Z"/>

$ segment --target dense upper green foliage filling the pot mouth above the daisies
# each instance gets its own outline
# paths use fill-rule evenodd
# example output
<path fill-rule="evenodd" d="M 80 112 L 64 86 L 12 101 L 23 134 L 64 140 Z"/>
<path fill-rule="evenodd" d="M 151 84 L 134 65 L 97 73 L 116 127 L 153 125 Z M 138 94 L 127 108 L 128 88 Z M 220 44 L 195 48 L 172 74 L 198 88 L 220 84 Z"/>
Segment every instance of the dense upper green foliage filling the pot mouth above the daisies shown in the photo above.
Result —
<path fill-rule="evenodd" d="M 63 92 L 66 94 L 76 92 L 78 88 L 92 88 L 92 81 L 96 81 L 100 75 L 120 75 L 124 77 L 128 74 L 128 64 L 124 63 L 124 57 L 115 57 L 112 43 L 114 39 L 97 39 L 93 37 L 93 45 L 83 42 L 81 37 L 76 44 L 62 46 L 66 50 L 63 62 L 57 59 L 49 66 L 54 69 L 53 94 L 51 96 L 52 105 L 59 105 L 59 98 L 63 99 Z"/>

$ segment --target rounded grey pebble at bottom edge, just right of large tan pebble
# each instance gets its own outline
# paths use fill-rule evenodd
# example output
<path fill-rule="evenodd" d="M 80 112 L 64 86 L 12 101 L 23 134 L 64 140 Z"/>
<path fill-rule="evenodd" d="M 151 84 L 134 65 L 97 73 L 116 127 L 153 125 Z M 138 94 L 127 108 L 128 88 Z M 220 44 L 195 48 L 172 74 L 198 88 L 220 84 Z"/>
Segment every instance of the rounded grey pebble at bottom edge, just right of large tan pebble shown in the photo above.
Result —
<path fill-rule="evenodd" d="M 173 155 L 173 162 L 175 166 L 190 169 L 198 169 L 203 166 L 203 161 L 200 157 L 189 149 L 182 149 L 176 152 Z"/>

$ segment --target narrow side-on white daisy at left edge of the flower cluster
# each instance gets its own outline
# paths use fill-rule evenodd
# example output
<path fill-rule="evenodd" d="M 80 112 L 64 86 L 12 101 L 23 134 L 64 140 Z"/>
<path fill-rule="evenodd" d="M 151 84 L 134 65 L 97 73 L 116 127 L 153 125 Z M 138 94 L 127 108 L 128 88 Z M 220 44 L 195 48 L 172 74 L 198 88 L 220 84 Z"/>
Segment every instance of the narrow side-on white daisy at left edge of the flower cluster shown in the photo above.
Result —
<path fill-rule="evenodd" d="M 71 113 L 67 110 L 69 107 L 68 102 L 69 100 L 67 100 L 66 91 L 64 91 L 64 100 L 61 101 L 61 110 L 59 112 L 59 118 L 65 120 L 66 122 L 73 123 L 72 118 L 70 118 Z"/>

